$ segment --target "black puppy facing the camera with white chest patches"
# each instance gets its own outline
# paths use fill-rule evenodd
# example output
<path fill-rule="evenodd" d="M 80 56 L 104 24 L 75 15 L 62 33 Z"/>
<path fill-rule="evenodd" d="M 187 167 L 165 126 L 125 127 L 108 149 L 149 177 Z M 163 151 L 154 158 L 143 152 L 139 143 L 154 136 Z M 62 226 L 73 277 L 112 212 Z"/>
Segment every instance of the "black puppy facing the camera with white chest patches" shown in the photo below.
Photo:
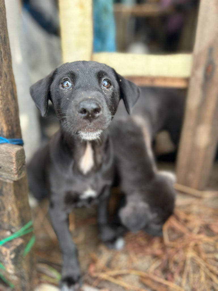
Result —
<path fill-rule="evenodd" d="M 69 212 L 98 202 L 100 237 L 109 246 L 117 243 L 119 234 L 107 216 L 113 180 L 107 128 L 121 98 L 130 113 L 139 88 L 107 65 L 77 61 L 61 65 L 30 92 L 42 116 L 51 100 L 60 130 L 28 165 L 29 186 L 38 199 L 49 194 L 51 222 L 63 254 L 61 290 L 78 290 L 81 271 L 69 232 Z"/>

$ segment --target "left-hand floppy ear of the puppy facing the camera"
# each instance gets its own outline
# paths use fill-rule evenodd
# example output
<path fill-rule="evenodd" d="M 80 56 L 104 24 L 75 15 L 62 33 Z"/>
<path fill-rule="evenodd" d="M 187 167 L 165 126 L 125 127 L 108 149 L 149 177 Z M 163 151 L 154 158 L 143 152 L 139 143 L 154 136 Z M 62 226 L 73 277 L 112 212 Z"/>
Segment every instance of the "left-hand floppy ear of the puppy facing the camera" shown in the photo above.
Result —
<path fill-rule="evenodd" d="M 30 87 L 30 95 L 43 117 L 46 116 L 48 113 L 50 85 L 53 79 L 54 72 L 55 70 L 52 71 L 47 77 L 37 81 Z"/>

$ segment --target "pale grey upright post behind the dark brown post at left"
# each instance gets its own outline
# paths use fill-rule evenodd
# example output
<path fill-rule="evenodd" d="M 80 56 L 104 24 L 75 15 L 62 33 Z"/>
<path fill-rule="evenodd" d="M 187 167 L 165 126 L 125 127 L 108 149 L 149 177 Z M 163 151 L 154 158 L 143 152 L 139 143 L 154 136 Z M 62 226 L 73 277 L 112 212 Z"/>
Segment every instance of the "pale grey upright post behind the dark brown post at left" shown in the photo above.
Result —
<path fill-rule="evenodd" d="M 25 36 L 27 31 L 22 22 L 21 1 L 7 0 L 5 1 L 5 6 L 12 68 L 17 89 L 20 125 L 22 137 L 24 139 L 25 155 L 28 160 L 32 157 L 33 152 L 36 151 L 39 146 L 40 129 L 38 112 L 29 92 L 29 87 L 31 86 L 31 74 L 28 65 L 28 43 L 26 42 L 27 38 Z M 33 34 L 36 41 L 42 42 L 42 40 L 37 39 L 35 31 Z M 33 58 L 38 58 L 38 56 L 35 55 L 35 52 L 33 53 Z M 49 70 L 49 72 L 51 72 L 51 70 Z M 38 81 L 38 79 L 36 81 Z"/>

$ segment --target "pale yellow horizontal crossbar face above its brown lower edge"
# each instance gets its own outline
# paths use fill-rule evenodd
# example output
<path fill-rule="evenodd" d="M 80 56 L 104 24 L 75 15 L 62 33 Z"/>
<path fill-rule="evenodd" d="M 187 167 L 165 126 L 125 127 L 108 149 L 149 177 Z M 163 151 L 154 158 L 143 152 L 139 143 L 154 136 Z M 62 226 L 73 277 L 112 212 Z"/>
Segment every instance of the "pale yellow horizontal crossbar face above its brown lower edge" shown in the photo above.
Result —
<path fill-rule="evenodd" d="M 189 78 L 192 68 L 192 54 L 95 53 L 92 60 L 106 63 L 123 76 Z"/>

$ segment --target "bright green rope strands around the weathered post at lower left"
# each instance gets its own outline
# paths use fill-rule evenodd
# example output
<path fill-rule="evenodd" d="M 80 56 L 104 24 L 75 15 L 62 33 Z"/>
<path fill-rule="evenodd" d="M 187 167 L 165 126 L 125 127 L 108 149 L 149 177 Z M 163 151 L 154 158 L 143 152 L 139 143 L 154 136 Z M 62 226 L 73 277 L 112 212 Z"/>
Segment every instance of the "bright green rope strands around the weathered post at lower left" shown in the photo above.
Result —
<path fill-rule="evenodd" d="M 2 239 L 0 241 L 0 246 L 3 246 L 3 244 L 5 244 L 6 242 L 10 242 L 11 240 L 17 238 L 17 237 L 21 237 L 23 235 L 26 235 L 27 233 L 31 233 L 33 231 L 33 221 L 29 221 L 28 223 L 26 223 L 22 228 L 20 228 L 19 230 L 17 230 L 15 233 L 13 233 L 12 235 L 9 235 L 8 237 Z M 23 257 L 25 257 L 28 252 L 32 249 L 33 244 L 35 242 L 35 235 L 33 234 L 31 239 L 28 241 L 24 252 L 23 252 Z M 0 269 L 6 271 L 6 268 L 2 265 L 2 263 L 0 262 Z M 14 288 L 14 285 L 8 281 L 7 278 L 5 278 L 5 276 L 0 272 L 0 278 L 6 283 L 8 284 L 11 288 Z"/>

